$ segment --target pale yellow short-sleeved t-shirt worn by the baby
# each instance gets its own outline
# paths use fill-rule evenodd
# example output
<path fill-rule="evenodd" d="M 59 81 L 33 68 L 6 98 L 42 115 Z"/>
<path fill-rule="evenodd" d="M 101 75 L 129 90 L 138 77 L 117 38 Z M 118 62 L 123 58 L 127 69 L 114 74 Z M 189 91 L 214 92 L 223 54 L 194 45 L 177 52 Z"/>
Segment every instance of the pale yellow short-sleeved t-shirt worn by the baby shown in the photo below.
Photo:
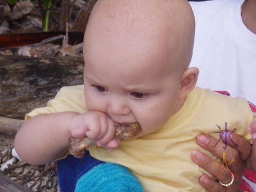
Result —
<path fill-rule="evenodd" d="M 83 86 L 62 88 L 47 107 L 35 109 L 26 115 L 26 119 L 63 111 L 87 111 Z M 219 134 L 213 132 L 220 131 L 217 125 L 225 130 L 227 123 L 228 130 L 236 127 L 235 133 L 252 142 L 246 130 L 253 119 L 256 118 L 246 100 L 195 88 L 182 108 L 159 131 L 138 139 L 123 140 L 112 153 L 97 146 L 89 150 L 96 159 L 130 168 L 145 191 L 205 191 L 198 179 L 206 172 L 191 160 L 191 152 L 196 148 L 204 151 L 195 138 L 200 133 L 207 133 L 219 139 Z M 212 157 L 209 152 L 204 152 Z"/>

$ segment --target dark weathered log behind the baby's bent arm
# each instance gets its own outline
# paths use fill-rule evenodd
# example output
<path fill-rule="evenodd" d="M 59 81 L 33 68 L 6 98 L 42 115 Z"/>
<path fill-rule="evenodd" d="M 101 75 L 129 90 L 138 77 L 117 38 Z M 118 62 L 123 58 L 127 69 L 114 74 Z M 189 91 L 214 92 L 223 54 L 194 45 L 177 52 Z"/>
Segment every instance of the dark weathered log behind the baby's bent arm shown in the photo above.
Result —
<path fill-rule="evenodd" d="M 24 119 L 61 87 L 83 83 L 82 57 L 0 57 L 0 116 Z"/>

